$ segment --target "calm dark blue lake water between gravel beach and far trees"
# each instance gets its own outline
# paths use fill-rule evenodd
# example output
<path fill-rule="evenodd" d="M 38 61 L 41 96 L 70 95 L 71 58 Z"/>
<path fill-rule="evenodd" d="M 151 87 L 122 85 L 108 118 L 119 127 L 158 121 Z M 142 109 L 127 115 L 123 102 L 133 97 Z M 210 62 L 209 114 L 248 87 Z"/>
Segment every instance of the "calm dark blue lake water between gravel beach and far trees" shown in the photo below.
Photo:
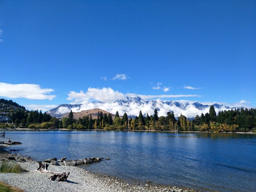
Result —
<path fill-rule="evenodd" d="M 256 190 L 256 134 L 6 131 L 36 160 L 109 157 L 85 169 L 134 182 L 217 191 Z"/>

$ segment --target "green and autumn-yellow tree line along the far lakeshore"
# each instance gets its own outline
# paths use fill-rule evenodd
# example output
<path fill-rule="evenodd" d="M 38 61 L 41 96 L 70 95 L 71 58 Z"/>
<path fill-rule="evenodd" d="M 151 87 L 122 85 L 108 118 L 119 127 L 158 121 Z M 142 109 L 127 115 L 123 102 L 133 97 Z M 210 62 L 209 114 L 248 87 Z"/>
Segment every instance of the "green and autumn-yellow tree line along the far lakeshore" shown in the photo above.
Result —
<path fill-rule="evenodd" d="M 5 99 L 1 99 L 5 100 Z M 5 100 L 12 104 L 11 100 Z M 155 131 L 201 131 L 201 132 L 254 132 L 256 133 L 256 109 L 237 108 L 232 110 L 215 112 L 213 105 L 209 113 L 197 115 L 189 119 L 180 114 L 175 118 L 174 112 L 168 112 L 166 116 L 158 117 L 157 109 L 154 115 L 128 118 L 124 113 L 119 116 L 118 111 L 114 119 L 111 114 L 98 111 L 98 117 L 93 119 L 91 114 L 82 118 L 74 119 L 72 110 L 68 117 L 62 119 L 52 117 L 38 110 L 26 110 L 24 107 L 13 102 L 15 110 L 9 113 L 9 120 L 0 123 L 0 128 L 31 128 L 31 129 L 76 129 L 76 130 L 155 130 Z"/>

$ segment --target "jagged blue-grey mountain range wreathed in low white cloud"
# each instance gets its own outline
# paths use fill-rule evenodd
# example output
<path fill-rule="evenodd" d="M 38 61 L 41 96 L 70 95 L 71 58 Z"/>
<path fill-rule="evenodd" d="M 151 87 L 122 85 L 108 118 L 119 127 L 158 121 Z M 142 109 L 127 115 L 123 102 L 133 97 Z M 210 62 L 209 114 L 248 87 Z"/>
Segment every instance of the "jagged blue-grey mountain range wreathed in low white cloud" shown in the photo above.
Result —
<path fill-rule="evenodd" d="M 213 104 L 216 113 L 219 110 L 231 110 L 231 107 Z M 119 112 L 119 115 L 122 116 L 124 113 L 127 113 L 128 116 L 139 116 L 140 110 L 142 114 L 146 116 L 148 113 L 149 116 L 154 114 L 154 110 L 157 109 L 158 116 L 166 116 L 168 111 L 174 111 L 175 117 L 180 116 L 182 113 L 186 117 L 195 117 L 196 115 L 201 115 L 201 113 L 209 112 L 210 105 L 203 105 L 195 101 L 162 101 L 160 99 L 144 101 L 140 97 L 126 97 L 126 99 L 118 99 L 114 102 L 87 102 L 84 104 L 61 104 L 58 107 L 47 111 L 51 116 L 61 117 L 72 110 L 73 112 L 79 112 L 83 110 L 89 110 L 93 108 L 100 108 L 110 113 L 116 114 L 116 111 Z M 234 107 L 233 107 L 234 108 Z M 244 107 L 236 107 L 244 108 Z"/>

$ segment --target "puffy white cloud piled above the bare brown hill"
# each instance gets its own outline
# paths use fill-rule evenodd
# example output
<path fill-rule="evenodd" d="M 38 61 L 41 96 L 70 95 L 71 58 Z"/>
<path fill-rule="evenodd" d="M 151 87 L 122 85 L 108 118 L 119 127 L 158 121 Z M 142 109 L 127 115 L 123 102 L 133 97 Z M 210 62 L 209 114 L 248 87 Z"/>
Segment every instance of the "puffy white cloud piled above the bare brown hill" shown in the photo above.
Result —
<path fill-rule="evenodd" d="M 126 96 L 123 93 L 114 91 L 110 87 L 103 87 L 102 89 L 89 87 L 86 93 L 84 93 L 84 91 L 80 91 L 80 93 L 70 91 L 68 96 L 67 100 L 74 100 L 73 103 L 84 103 L 90 101 L 90 99 L 102 102 L 113 102 L 117 99 L 126 99 Z"/>

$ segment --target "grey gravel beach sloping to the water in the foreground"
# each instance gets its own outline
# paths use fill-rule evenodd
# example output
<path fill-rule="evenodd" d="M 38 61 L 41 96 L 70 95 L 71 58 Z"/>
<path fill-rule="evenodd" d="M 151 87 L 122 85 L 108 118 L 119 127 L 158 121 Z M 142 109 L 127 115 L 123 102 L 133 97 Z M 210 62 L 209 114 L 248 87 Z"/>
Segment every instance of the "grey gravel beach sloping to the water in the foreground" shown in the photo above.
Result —
<path fill-rule="evenodd" d="M 0 154 L 0 158 L 8 154 Z M 10 155 L 10 154 L 9 154 Z M 13 156 L 13 155 L 12 155 Z M 0 173 L 0 180 L 26 192 L 48 192 L 48 191 L 76 191 L 76 192 L 195 192 L 194 189 L 178 188 L 171 186 L 156 186 L 151 183 L 128 184 L 123 180 L 108 175 L 100 175 L 79 168 L 79 166 L 56 166 L 49 165 L 50 172 L 70 172 L 66 181 L 51 181 L 49 177 L 53 174 L 40 173 L 35 170 L 38 162 L 27 158 L 27 162 L 18 162 L 23 169 L 29 172 L 21 174 Z"/>

